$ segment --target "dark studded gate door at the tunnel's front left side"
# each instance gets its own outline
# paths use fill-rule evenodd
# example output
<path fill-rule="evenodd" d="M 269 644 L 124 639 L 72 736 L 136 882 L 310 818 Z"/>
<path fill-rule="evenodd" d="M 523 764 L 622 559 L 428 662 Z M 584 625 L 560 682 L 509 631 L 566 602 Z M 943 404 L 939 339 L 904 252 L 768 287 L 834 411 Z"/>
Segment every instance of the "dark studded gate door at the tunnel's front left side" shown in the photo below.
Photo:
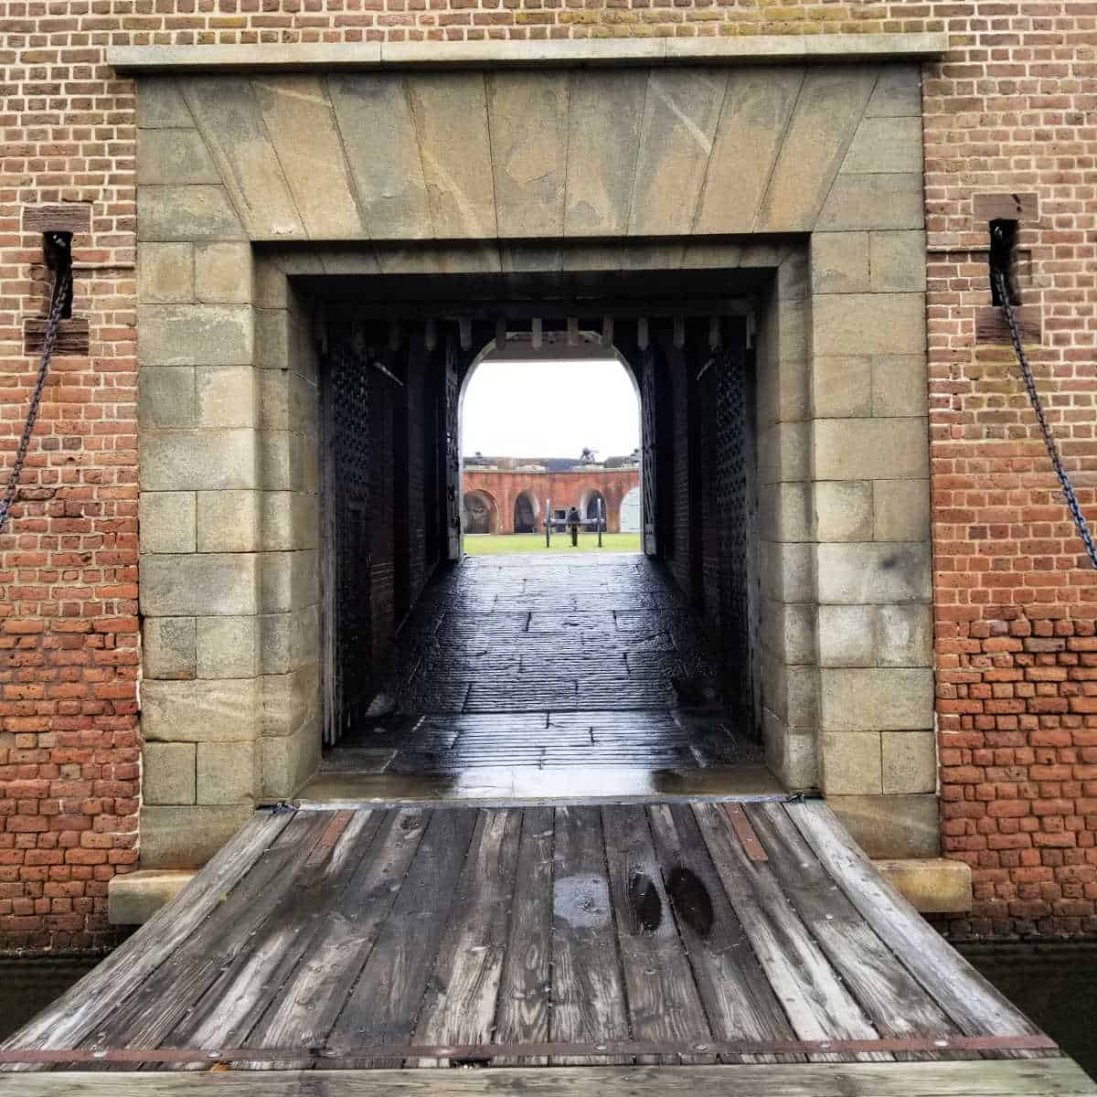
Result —
<path fill-rule="evenodd" d="M 361 331 L 331 332 L 323 385 L 324 742 L 370 703 L 370 376 Z"/>

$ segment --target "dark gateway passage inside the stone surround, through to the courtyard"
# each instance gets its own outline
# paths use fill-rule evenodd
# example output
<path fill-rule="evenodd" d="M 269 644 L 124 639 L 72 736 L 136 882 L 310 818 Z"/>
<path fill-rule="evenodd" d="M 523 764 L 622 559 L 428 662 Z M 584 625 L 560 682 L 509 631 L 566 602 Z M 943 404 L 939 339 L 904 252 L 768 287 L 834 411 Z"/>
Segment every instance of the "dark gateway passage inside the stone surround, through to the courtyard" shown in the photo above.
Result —
<path fill-rule="evenodd" d="M 443 787 L 505 771 L 509 790 L 567 796 L 583 791 L 579 772 L 587 792 L 610 770 L 634 771 L 646 792 L 761 760 L 755 355 L 743 312 L 609 299 L 326 310 L 327 768 Z M 597 439 L 538 483 L 528 466 L 546 462 L 529 451 L 464 445 L 473 375 L 533 355 L 609 363 L 627 380 L 638 437 L 612 455 L 612 476 L 593 475 L 609 464 Z M 589 551 L 570 543 L 569 522 Z M 599 525 L 632 545 L 598 550 Z M 546 532 L 547 548 L 468 550 Z"/>

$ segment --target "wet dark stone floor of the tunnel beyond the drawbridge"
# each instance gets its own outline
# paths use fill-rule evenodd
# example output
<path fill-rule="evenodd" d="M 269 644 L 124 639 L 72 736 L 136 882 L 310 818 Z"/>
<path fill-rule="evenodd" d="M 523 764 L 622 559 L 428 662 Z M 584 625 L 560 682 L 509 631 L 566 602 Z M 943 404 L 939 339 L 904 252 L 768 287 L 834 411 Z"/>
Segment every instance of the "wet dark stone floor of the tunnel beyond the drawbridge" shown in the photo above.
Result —
<path fill-rule="evenodd" d="M 761 747 L 730 725 L 715 681 L 699 620 L 647 557 L 466 556 L 423 592 L 377 715 L 325 770 L 530 783 L 570 769 L 597 788 L 622 768 L 757 767 Z"/>

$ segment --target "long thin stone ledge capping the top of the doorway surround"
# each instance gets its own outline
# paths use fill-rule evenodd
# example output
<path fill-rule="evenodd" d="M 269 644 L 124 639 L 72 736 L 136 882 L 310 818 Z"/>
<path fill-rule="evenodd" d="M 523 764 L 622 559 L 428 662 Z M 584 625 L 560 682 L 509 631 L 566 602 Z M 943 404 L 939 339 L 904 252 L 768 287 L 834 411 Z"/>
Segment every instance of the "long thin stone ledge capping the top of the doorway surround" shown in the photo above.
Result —
<path fill-rule="evenodd" d="M 726 38 L 575 38 L 536 42 L 366 42 L 290 45 L 110 46 L 122 76 L 291 72 L 316 68 L 578 67 L 659 64 L 859 61 L 940 57 L 945 33 L 759 34 Z"/>

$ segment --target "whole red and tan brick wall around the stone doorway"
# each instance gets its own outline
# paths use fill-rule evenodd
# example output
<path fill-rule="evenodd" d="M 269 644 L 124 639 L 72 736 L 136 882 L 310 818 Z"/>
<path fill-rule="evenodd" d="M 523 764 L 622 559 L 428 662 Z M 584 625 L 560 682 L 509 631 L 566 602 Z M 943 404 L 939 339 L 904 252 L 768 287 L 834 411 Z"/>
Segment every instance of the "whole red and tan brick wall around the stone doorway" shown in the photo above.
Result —
<path fill-rule="evenodd" d="M 91 237 L 76 258 L 97 268 L 81 271 L 76 287 L 75 314 L 90 321 L 90 355 L 58 361 L 24 501 L 0 534 L 4 945 L 75 948 L 104 939 L 106 880 L 136 858 L 134 102 L 132 84 L 103 65 L 105 44 L 823 31 L 951 35 L 949 56 L 926 67 L 924 95 L 945 847 L 973 862 L 977 893 L 973 918 L 952 929 L 1092 931 L 1088 836 L 1097 814 L 1084 777 L 1094 720 L 1084 711 L 1085 680 L 1072 679 L 1067 664 L 1065 679 L 1042 681 L 1030 697 L 1024 680 L 987 677 L 1004 658 L 992 644 L 1003 630 L 1088 640 L 1095 587 L 1076 566 L 1070 524 L 1008 354 L 973 347 L 974 308 L 987 303 L 988 286 L 985 226 L 974 223 L 970 196 L 1040 195 L 1040 220 L 1021 233 L 1022 297 L 1043 305 L 1045 338 L 1033 359 L 1041 384 L 1053 389 L 1051 418 L 1068 467 L 1083 474 L 1082 499 L 1092 510 L 1095 493 L 1085 480 L 1095 470 L 1097 291 L 1087 271 L 1097 258 L 1089 90 L 1097 4 L 348 0 L 258 8 L 188 0 L 112 13 L 83 3 L 48 12 L 0 4 L 0 464 L 10 463 L 35 365 L 22 354 L 22 320 L 41 316 L 43 303 L 34 281 L 39 240 L 21 234 L 22 207 L 92 203 Z M 1051 637 L 1042 635 L 1048 627 Z M 1013 697 L 993 697 L 1008 686 Z M 997 711 L 1005 701 L 1014 711 Z M 1056 711 L 1044 711 L 1049 701 Z M 1049 750 L 1071 776 L 1059 780 L 1059 794 L 1044 798 L 1036 794 L 1045 773 L 1040 767 L 1052 762 L 1036 759 L 1048 759 L 1040 751 Z M 987 751 L 992 761 L 1010 758 L 1010 772 L 1025 780 L 999 780 L 998 767 L 984 760 Z M 1008 794 L 1014 783 L 1022 795 Z M 984 799 L 987 785 L 1028 814 L 981 812 L 980 804 L 997 802 Z M 1045 800 L 1068 800 L 1072 811 L 1042 814 Z M 949 804 L 969 805 L 968 814 L 953 814 Z M 1018 823 L 1014 832 L 1004 822 L 1010 817 L 1036 826 Z M 1062 830 L 1058 822 L 1040 822 L 1060 817 Z M 1064 837 L 1010 838 L 1020 846 L 1015 864 L 1010 851 L 989 841 L 991 834 L 1015 833 Z M 1021 905 L 1031 902 L 1043 905 Z"/>

